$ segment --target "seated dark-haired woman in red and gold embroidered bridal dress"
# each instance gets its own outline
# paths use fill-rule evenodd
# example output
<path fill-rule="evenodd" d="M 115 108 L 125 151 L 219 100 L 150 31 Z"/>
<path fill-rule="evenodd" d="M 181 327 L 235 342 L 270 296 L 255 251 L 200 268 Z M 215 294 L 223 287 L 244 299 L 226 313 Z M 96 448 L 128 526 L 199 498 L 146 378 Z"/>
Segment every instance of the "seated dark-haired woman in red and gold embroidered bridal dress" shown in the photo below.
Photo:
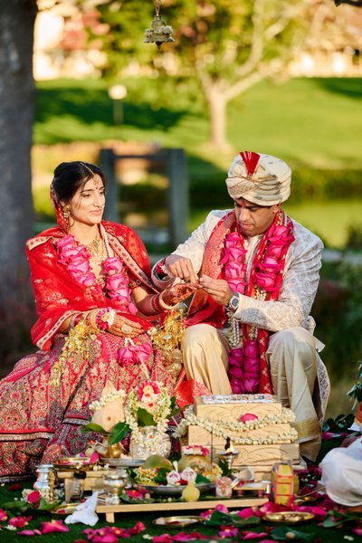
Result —
<path fill-rule="evenodd" d="M 148 279 L 148 254 L 123 224 L 102 221 L 105 176 L 86 162 L 54 170 L 58 226 L 26 244 L 39 319 L 40 349 L 0 382 L 0 481 L 28 477 L 40 462 L 87 446 L 81 425 L 106 382 L 129 391 L 142 380 L 173 389 L 167 359 L 148 329 L 193 291 L 159 294 Z"/>

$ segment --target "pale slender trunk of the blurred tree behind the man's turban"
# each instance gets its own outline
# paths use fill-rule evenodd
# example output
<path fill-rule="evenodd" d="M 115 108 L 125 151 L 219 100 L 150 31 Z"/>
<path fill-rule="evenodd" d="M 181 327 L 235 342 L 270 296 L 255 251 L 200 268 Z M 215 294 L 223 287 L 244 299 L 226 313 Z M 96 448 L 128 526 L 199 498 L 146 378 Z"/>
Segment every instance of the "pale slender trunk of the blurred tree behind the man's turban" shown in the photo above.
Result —
<path fill-rule="evenodd" d="M 217 83 L 212 83 L 205 92 L 210 118 L 210 142 L 214 147 L 228 150 L 231 146 L 226 138 L 227 101 Z"/>

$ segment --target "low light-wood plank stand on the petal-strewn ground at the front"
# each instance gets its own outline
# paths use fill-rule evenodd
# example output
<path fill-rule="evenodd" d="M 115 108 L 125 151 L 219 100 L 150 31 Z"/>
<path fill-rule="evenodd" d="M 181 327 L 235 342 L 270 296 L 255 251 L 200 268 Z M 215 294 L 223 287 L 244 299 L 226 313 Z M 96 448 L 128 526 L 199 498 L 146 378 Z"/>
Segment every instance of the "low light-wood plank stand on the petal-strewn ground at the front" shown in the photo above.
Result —
<path fill-rule="evenodd" d="M 107 522 L 114 522 L 116 513 L 141 513 L 149 511 L 209 510 L 222 504 L 228 509 L 261 507 L 267 498 L 235 498 L 231 500 L 170 501 L 162 503 L 120 503 L 119 505 L 98 505 L 96 513 L 105 513 Z"/>

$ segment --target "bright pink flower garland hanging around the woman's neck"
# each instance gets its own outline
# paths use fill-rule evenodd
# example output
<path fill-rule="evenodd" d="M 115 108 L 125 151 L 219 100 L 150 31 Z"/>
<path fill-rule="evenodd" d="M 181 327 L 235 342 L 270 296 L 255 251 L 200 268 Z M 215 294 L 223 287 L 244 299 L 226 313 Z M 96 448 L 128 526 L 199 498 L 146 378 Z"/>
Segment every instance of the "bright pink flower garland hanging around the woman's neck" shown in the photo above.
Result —
<path fill-rule="evenodd" d="M 57 243 L 59 262 L 71 273 L 71 276 L 85 287 L 96 284 L 96 277 L 90 267 L 90 252 L 77 243 L 71 233 L 65 235 Z M 125 266 L 118 257 L 109 257 L 102 262 L 106 276 L 106 291 L 110 300 L 116 300 L 135 314 L 137 308 L 130 300 L 129 278 Z"/>

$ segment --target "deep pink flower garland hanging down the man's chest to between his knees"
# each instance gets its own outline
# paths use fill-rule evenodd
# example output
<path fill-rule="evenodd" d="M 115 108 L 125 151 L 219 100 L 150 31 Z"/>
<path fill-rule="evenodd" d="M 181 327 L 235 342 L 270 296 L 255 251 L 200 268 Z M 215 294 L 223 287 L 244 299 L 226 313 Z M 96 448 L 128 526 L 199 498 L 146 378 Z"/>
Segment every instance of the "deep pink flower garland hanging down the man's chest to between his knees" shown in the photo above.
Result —
<path fill-rule="evenodd" d="M 276 217 L 277 219 L 277 217 Z M 246 250 L 243 236 L 238 232 L 228 233 L 224 240 L 224 251 L 220 263 L 224 264 L 224 279 L 233 291 L 252 296 L 256 291 L 277 296 L 282 281 L 284 255 L 294 237 L 290 226 L 271 224 L 265 234 L 265 247 L 257 252 L 252 265 L 251 285 L 246 284 Z M 261 244 L 263 243 L 263 240 Z M 250 286 L 252 288 L 250 288 Z M 265 299 L 265 297 L 263 299 Z M 256 339 L 244 333 L 243 347 L 233 348 L 229 353 L 229 377 L 233 394 L 255 393 L 260 383 L 260 351 Z"/>

